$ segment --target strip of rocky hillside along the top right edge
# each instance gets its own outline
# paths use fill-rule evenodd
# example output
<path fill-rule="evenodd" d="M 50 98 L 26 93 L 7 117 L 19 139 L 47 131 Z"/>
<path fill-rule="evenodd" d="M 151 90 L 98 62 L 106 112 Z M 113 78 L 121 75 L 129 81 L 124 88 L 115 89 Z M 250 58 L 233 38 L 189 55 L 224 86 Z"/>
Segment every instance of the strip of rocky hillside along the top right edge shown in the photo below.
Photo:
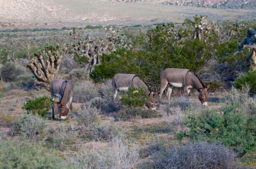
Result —
<path fill-rule="evenodd" d="M 118 2 L 153 3 L 211 8 L 256 9 L 256 0 L 111 0 Z"/>

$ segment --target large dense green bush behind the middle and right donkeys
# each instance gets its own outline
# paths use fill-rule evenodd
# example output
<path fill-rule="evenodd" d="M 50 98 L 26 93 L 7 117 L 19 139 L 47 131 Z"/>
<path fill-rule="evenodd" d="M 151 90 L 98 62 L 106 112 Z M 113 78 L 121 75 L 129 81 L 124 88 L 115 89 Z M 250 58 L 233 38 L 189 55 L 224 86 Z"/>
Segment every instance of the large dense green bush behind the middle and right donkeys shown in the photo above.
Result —
<path fill-rule="evenodd" d="M 94 67 L 90 78 L 101 82 L 116 73 L 133 73 L 141 79 L 152 77 L 148 85 L 153 86 L 160 83 L 160 75 L 165 68 L 188 68 L 197 72 L 210 58 L 208 49 L 211 48 L 200 40 L 178 41 L 166 37 L 162 32 L 164 30 L 158 30 L 158 36 L 154 36 L 151 41 L 147 41 L 144 34 L 137 37 L 139 40 L 133 46 L 139 44 L 138 50 L 120 48 L 110 55 L 103 54 L 102 63 Z"/>

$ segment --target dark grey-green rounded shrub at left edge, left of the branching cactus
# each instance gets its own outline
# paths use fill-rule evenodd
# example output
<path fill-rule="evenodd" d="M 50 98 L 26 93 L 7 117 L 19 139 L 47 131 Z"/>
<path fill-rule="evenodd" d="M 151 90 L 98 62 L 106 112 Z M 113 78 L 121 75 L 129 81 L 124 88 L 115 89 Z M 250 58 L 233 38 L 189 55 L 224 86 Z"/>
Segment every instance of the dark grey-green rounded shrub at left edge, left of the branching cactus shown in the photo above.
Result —
<path fill-rule="evenodd" d="M 7 62 L 0 68 L 0 77 L 5 81 L 14 81 L 23 72 L 23 69 L 16 67 L 15 63 Z"/>

